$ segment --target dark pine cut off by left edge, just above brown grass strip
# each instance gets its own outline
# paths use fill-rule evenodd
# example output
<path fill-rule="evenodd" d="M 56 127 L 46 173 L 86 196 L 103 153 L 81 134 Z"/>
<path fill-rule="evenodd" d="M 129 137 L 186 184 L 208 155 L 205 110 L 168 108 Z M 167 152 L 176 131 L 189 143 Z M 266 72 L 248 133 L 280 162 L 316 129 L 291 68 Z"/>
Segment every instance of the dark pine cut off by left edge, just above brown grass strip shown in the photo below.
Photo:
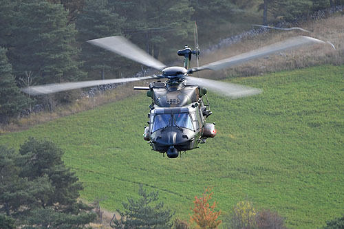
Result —
<path fill-rule="evenodd" d="M 28 99 L 17 87 L 12 66 L 8 63 L 6 50 L 0 47 L 0 122 L 6 123 L 8 118 L 15 117 L 28 105 Z"/>

